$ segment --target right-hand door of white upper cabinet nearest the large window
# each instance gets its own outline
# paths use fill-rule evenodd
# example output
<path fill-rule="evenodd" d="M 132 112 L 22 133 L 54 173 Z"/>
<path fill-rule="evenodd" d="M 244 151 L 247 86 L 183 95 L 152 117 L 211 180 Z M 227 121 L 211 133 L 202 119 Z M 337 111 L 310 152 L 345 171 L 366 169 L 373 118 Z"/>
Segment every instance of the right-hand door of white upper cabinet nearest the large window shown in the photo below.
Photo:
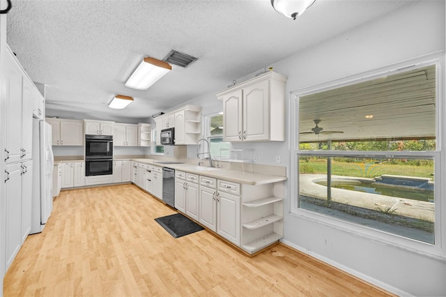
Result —
<path fill-rule="evenodd" d="M 270 82 L 243 89 L 243 140 L 270 139 Z"/>

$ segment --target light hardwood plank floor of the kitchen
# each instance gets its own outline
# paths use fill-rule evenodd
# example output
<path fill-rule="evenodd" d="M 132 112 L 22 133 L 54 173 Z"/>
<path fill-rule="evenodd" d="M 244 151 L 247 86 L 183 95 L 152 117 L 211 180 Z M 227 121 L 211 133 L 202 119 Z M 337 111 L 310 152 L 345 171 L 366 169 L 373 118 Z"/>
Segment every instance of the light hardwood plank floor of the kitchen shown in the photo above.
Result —
<path fill-rule="evenodd" d="M 62 191 L 28 236 L 4 296 L 388 296 L 278 244 L 249 257 L 210 231 L 173 238 L 175 213 L 135 185 Z"/>

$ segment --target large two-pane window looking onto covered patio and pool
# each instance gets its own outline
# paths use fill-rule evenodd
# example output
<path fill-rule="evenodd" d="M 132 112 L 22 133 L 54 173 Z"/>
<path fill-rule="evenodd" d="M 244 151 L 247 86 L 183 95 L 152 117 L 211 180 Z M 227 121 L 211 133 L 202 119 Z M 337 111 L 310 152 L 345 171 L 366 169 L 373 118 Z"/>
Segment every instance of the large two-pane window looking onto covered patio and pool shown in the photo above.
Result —
<path fill-rule="evenodd" d="M 420 63 L 297 93 L 294 211 L 440 246 L 439 76 Z"/>

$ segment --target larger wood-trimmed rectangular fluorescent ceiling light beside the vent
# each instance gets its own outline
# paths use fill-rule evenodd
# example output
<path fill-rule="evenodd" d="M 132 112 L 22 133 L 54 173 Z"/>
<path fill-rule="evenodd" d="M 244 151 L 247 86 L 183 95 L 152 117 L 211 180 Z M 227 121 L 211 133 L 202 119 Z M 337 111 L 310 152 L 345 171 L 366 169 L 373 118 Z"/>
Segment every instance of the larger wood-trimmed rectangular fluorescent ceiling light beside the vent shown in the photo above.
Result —
<path fill-rule="evenodd" d="M 137 90 L 146 90 L 158 79 L 172 70 L 169 63 L 146 57 L 130 75 L 125 86 Z"/>

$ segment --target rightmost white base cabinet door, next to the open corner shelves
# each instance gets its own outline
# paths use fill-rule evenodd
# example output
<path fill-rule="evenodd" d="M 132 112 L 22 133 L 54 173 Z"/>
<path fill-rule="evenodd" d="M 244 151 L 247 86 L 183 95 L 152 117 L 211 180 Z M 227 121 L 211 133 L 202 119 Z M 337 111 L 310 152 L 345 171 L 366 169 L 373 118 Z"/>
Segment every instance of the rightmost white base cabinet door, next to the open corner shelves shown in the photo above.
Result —
<path fill-rule="evenodd" d="M 217 193 L 217 234 L 240 245 L 240 197 Z"/>

